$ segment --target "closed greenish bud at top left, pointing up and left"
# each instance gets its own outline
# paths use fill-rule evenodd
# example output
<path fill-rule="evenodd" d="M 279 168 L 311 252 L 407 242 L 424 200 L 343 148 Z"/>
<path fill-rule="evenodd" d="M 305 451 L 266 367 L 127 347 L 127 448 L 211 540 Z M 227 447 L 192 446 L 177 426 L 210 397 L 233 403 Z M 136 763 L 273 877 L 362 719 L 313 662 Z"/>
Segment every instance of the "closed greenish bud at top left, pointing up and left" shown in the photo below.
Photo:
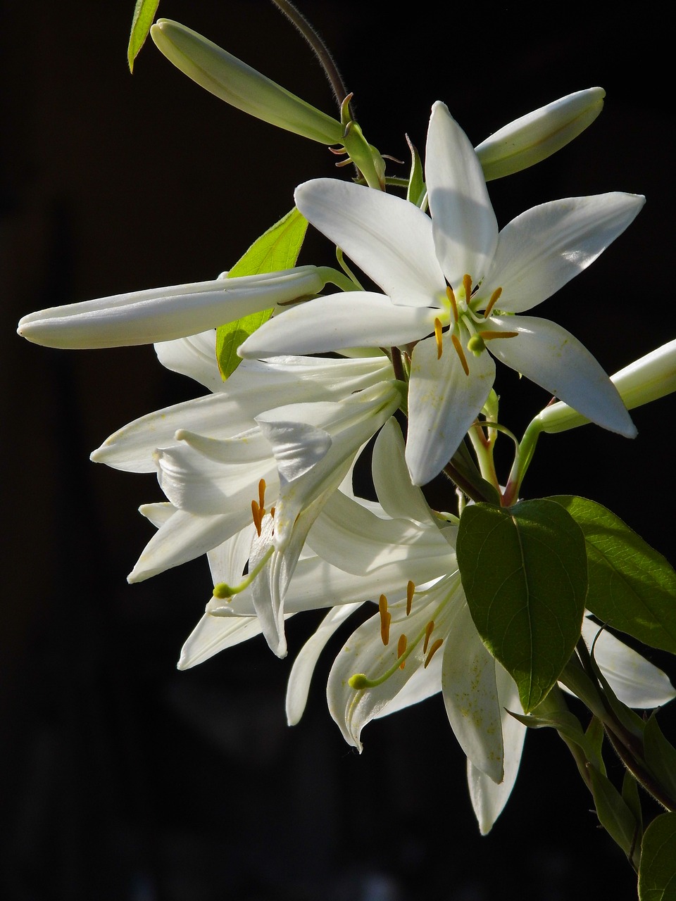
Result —
<path fill-rule="evenodd" d="M 338 120 L 291 94 L 201 34 L 170 19 L 151 27 L 158 49 L 188 77 L 225 103 L 271 125 L 331 145 L 343 141 Z"/>

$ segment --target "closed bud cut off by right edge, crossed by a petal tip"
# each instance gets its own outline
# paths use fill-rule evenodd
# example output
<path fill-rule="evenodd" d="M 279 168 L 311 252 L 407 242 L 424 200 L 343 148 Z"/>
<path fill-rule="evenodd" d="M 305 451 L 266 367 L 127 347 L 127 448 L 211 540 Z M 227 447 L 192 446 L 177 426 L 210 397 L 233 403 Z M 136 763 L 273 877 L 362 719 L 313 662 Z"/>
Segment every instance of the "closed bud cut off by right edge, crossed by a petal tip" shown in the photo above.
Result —
<path fill-rule="evenodd" d="M 610 380 L 617 387 L 627 410 L 676 391 L 676 340 L 636 359 L 611 376 Z M 553 433 L 574 429 L 589 423 L 589 419 L 559 401 L 546 406 L 542 413 L 535 416 L 534 423 L 539 424 L 541 431 Z"/>

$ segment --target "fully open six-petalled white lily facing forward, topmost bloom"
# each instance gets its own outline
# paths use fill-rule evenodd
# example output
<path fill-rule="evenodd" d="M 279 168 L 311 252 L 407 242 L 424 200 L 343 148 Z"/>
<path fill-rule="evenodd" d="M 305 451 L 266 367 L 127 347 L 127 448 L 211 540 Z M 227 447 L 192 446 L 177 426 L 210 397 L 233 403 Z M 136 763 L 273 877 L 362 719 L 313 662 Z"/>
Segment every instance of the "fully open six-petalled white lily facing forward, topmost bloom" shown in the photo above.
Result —
<path fill-rule="evenodd" d="M 644 204 L 606 194 L 535 206 L 498 234 L 479 160 L 435 104 L 415 205 L 333 179 L 297 188 L 298 209 L 385 294 L 315 298 L 269 320 L 242 357 L 370 345 L 411 357 L 407 463 L 416 485 L 443 469 L 489 396 L 490 352 L 580 414 L 627 436 L 635 427 L 607 374 L 559 325 L 521 314 L 552 296 L 614 241 Z"/>

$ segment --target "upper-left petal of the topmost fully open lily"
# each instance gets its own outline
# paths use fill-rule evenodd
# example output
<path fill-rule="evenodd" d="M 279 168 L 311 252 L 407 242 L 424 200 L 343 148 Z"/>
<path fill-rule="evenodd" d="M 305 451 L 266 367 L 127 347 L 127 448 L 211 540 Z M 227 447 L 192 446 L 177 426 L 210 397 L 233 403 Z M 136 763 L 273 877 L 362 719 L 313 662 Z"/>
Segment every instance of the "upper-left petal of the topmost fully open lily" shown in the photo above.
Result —
<path fill-rule="evenodd" d="M 429 216 L 400 197 L 334 178 L 296 188 L 296 205 L 393 304 L 429 306 L 445 290 Z M 346 345 L 347 346 L 347 345 Z"/>

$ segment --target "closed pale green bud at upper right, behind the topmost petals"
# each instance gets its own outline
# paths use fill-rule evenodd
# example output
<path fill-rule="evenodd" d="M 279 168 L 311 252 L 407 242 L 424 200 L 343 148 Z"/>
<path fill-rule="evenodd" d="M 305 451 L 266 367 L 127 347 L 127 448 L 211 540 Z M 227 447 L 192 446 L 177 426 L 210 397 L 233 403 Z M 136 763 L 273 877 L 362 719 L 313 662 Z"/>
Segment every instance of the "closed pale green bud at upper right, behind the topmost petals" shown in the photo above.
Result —
<path fill-rule="evenodd" d="M 481 141 L 476 152 L 486 180 L 512 175 L 561 150 L 596 119 L 605 96 L 602 87 L 576 91 L 516 119 Z"/>

